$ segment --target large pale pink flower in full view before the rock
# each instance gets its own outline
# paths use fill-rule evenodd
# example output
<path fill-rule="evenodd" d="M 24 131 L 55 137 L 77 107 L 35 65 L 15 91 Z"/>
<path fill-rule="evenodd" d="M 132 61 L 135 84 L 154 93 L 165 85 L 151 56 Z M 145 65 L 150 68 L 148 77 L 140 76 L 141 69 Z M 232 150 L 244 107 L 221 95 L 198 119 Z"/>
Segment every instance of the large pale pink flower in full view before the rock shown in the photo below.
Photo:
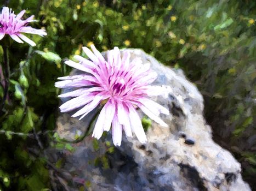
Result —
<path fill-rule="evenodd" d="M 158 115 L 169 114 L 163 106 L 149 99 L 149 93 L 153 91 L 149 86 L 156 78 L 155 72 L 145 66 L 138 58 L 130 62 L 130 54 L 127 51 L 121 53 L 118 47 L 107 51 L 107 61 L 92 45 L 92 51 L 83 47 L 83 51 L 90 61 L 81 56 L 74 56 L 79 63 L 66 61 L 65 64 L 84 71 L 84 74 L 59 77 L 55 83 L 59 88 L 77 88 L 75 91 L 59 95 L 61 98 L 72 98 L 60 106 L 61 112 L 71 111 L 82 107 L 72 117 L 83 118 L 102 101 L 106 102 L 96 121 L 93 136 L 101 137 L 104 130 L 109 131 L 112 123 L 112 139 L 114 145 L 121 145 L 122 130 L 127 136 L 135 133 L 141 143 L 146 142 L 146 135 L 136 112 L 139 107 L 152 120 L 167 126 Z M 88 87 L 89 86 L 89 87 Z M 80 88 L 83 87 L 83 88 Z"/>

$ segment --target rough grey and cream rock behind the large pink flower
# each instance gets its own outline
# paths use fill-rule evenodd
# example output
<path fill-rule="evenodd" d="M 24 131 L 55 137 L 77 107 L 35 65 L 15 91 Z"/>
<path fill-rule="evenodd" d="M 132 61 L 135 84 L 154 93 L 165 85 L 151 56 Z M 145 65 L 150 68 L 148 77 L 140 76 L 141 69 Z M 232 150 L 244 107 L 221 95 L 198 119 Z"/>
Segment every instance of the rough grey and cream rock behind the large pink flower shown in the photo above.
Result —
<path fill-rule="evenodd" d="M 121 147 L 113 153 L 106 152 L 105 142 L 112 144 L 110 133 L 99 140 L 98 148 L 89 135 L 73 144 L 75 152 L 62 152 L 63 169 L 78 182 L 90 182 L 88 190 L 251 190 L 242 180 L 240 163 L 212 140 L 211 127 L 203 117 L 202 95 L 183 72 L 162 65 L 141 50 L 123 51 L 150 63 L 158 73 L 153 85 L 161 86 L 163 93 L 152 99 L 170 110 L 172 115 L 161 116 L 169 127 L 152 122 L 145 145 L 135 136 L 127 139 L 123 135 Z M 94 126 L 96 112 L 82 121 L 61 114 L 57 122 L 60 137 L 75 140 L 82 136 L 89 124 Z M 95 165 L 103 158 L 109 168 L 100 162 Z M 76 189 L 78 186 L 72 188 Z"/>

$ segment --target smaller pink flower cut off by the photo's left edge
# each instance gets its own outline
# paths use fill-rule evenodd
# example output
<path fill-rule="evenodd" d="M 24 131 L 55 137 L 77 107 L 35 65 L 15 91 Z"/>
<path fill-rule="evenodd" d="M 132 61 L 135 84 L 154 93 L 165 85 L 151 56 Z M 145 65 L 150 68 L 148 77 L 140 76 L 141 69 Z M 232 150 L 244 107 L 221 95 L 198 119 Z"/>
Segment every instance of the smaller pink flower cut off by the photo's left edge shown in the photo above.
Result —
<path fill-rule="evenodd" d="M 44 29 L 35 29 L 27 26 L 28 23 L 36 20 L 33 20 L 33 15 L 26 20 L 22 20 L 21 17 L 24 13 L 25 10 L 22 10 L 18 15 L 15 15 L 12 9 L 3 7 L 2 13 L 0 14 L 0 40 L 4 38 L 5 34 L 9 34 L 10 37 L 18 43 L 23 43 L 22 40 L 24 40 L 31 46 L 36 46 L 36 43 L 22 33 L 38 34 L 42 37 L 47 35 Z"/>

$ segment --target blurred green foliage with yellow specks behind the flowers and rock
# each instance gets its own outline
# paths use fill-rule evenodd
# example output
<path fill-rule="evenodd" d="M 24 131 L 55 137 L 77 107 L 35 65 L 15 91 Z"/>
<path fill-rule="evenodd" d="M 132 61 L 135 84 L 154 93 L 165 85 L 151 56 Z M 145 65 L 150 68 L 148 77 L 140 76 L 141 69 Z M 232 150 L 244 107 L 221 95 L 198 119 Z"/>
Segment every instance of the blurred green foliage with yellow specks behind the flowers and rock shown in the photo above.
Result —
<path fill-rule="evenodd" d="M 100 51 L 141 48 L 163 64 L 183 69 L 204 96 L 213 138 L 235 155 L 244 180 L 256 187 L 255 1 L 2 0 L 0 5 L 4 3 L 15 13 L 26 9 L 25 17 L 36 15 L 39 22 L 32 25 L 44 27 L 48 35 L 32 35 L 36 47 L 13 43 L 10 49 L 9 95 L 0 117 L 1 190 L 51 188 L 49 169 L 59 164 L 50 163 L 43 148 L 73 149 L 56 144 L 53 136 L 59 104 L 54 82 L 71 70 L 61 59 L 84 56 L 82 46 L 92 43 Z"/>

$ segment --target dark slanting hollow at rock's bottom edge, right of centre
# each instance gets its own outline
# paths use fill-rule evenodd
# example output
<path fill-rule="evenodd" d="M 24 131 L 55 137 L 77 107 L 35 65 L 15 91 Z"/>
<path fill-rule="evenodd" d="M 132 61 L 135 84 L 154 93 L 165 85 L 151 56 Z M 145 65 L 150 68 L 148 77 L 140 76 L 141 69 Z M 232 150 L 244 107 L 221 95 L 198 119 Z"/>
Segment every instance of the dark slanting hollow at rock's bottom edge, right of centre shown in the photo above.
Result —
<path fill-rule="evenodd" d="M 183 176 L 190 181 L 193 187 L 196 187 L 202 191 L 207 190 L 207 188 L 204 187 L 203 180 L 200 178 L 197 170 L 194 167 L 181 163 L 179 166 L 181 173 L 183 173 Z"/>

